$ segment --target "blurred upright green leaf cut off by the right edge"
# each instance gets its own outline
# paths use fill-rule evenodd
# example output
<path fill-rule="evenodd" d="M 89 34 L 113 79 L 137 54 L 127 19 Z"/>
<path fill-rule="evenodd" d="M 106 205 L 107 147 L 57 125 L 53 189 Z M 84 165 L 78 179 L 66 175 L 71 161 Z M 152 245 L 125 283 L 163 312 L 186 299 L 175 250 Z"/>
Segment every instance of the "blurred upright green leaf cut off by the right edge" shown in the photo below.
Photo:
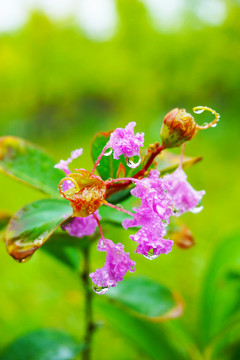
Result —
<path fill-rule="evenodd" d="M 240 234 L 236 234 L 219 244 L 206 271 L 199 318 L 204 345 L 234 323 L 237 313 L 240 320 L 239 273 Z"/>

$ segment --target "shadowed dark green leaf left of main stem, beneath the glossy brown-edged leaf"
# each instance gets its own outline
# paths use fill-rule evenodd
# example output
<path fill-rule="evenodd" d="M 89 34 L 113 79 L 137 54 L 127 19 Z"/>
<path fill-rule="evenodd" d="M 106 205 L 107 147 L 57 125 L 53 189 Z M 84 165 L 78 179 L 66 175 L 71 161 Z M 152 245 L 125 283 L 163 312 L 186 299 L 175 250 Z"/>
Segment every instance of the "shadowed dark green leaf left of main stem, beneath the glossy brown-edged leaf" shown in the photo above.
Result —
<path fill-rule="evenodd" d="M 89 239 L 86 237 L 79 239 L 65 233 L 54 233 L 41 249 L 70 269 L 78 271 L 81 258 L 80 248 L 87 246 L 87 241 L 89 242 Z"/>

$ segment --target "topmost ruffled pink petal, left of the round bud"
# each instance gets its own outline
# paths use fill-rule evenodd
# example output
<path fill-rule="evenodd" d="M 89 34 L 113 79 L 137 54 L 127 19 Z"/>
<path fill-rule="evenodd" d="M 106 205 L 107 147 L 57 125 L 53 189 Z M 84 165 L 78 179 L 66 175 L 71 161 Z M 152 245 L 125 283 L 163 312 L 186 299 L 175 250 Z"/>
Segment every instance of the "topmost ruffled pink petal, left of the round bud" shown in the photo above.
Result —
<path fill-rule="evenodd" d="M 122 154 L 127 158 L 140 155 L 139 147 L 143 146 L 144 133 L 134 135 L 135 125 L 135 122 L 130 122 L 125 129 L 117 128 L 111 134 L 108 145 L 114 150 L 114 159 L 118 160 Z"/>

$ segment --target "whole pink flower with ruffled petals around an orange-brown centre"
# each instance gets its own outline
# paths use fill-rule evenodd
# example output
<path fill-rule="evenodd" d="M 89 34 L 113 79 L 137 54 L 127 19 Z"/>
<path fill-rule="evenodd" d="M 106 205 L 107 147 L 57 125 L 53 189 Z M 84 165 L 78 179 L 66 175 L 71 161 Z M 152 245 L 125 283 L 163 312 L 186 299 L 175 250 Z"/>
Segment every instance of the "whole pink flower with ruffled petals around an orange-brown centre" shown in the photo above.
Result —
<path fill-rule="evenodd" d="M 71 236 L 83 237 L 92 235 L 96 227 L 99 227 L 101 237 L 97 249 L 106 252 L 106 262 L 102 268 L 89 275 L 94 283 L 93 289 L 98 294 L 105 293 L 110 286 L 116 286 L 119 281 L 123 280 L 127 271 L 135 270 L 135 262 L 130 259 L 128 253 L 124 252 L 124 246 L 121 243 L 114 244 L 111 240 L 104 238 L 97 210 L 99 206 L 110 206 L 132 216 L 132 219 L 127 218 L 123 221 L 123 227 L 125 229 L 137 228 L 136 233 L 130 235 L 130 239 L 137 243 L 136 253 L 151 260 L 160 254 L 168 254 L 172 250 L 173 241 L 165 238 L 170 217 L 179 216 L 186 211 L 198 212 L 202 209 L 199 204 L 205 191 L 193 189 L 187 181 L 181 163 L 173 173 L 163 177 L 157 170 L 146 172 L 144 178 L 142 178 L 142 172 L 139 172 L 139 176 L 137 173 L 133 178 L 117 178 L 105 182 L 94 175 L 97 165 L 109 148 L 114 152 L 114 159 L 119 159 L 121 155 L 124 155 L 126 159 L 136 155 L 140 156 L 139 148 L 143 146 L 144 134 L 137 133 L 135 135 L 135 125 L 134 122 L 131 122 L 125 129 L 118 128 L 112 132 L 110 140 L 103 148 L 91 173 L 84 169 L 71 173 L 68 168 L 71 161 L 82 154 L 82 149 L 73 151 L 69 159 L 61 160 L 56 165 L 67 175 L 61 182 L 63 186 L 59 188 L 60 192 L 71 202 L 74 214 L 78 215 L 68 221 L 63 226 L 63 230 L 68 231 Z M 154 156 L 162 148 L 159 147 Z M 108 154 L 110 155 L 110 152 Z M 128 162 L 127 164 L 132 167 Z M 145 170 L 148 170 L 146 166 Z M 118 208 L 106 200 L 109 187 L 116 187 L 116 185 L 123 187 L 124 184 L 125 186 L 135 185 L 131 190 L 131 195 L 139 198 L 141 202 L 139 207 L 133 208 L 132 213 Z M 94 194 L 92 194 L 93 192 Z M 93 195 L 94 206 L 90 206 Z"/>

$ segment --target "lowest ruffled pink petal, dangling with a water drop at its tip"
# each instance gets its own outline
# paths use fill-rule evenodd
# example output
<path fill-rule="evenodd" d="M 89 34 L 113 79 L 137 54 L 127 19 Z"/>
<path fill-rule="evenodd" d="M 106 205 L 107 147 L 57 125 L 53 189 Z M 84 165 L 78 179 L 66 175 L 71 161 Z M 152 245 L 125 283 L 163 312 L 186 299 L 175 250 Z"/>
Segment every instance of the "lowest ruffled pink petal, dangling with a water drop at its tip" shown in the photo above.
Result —
<path fill-rule="evenodd" d="M 129 258 L 129 253 L 124 252 L 124 246 L 121 243 L 114 244 L 111 240 L 102 238 L 99 240 L 97 249 L 106 251 L 106 262 L 102 268 L 89 276 L 96 285 L 96 289 L 98 288 L 95 291 L 103 294 L 110 286 L 114 287 L 122 281 L 128 270 L 135 271 L 135 262 Z"/>

